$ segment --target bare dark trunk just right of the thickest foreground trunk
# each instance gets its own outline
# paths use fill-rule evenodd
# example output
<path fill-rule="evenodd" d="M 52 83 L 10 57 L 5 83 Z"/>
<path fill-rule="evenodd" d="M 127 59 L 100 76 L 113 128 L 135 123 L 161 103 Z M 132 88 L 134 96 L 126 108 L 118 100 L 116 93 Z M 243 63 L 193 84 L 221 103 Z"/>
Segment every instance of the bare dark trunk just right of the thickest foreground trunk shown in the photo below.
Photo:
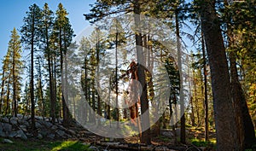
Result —
<path fill-rule="evenodd" d="M 224 1 L 224 4 L 225 7 L 228 7 L 228 2 L 226 0 Z M 234 38 L 231 32 L 230 20 L 227 20 L 227 35 L 229 47 L 232 47 L 234 45 Z M 237 131 L 239 132 L 239 141 L 242 149 L 251 148 L 253 143 L 256 142 L 253 122 L 248 112 L 246 97 L 244 91 L 241 89 L 241 83 L 239 82 L 238 78 L 236 68 L 236 52 L 233 49 L 231 49 L 229 55 L 231 90 L 236 112 L 236 125 Z"/>

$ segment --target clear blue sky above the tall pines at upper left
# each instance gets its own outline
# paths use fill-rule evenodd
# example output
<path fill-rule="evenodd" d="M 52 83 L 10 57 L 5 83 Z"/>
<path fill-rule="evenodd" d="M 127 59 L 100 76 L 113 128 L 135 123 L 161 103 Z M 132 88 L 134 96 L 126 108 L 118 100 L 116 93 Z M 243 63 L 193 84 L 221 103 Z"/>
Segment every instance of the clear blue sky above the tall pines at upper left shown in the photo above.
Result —
<path fill-rule="evenodd" d="M 90 12 L 90 3 L 94 3 L 95 0 L 4 0 L 0 5 L 0 59 L 6 55 L 8 49 L 8 43 L 10 38 L 10 32 L 14 29 L 20 29 L 23 25 L 23 18 L 26 16 L 28 7 L 33 3 L 38 4 L 40 8 L 43 8 L 44 3 L 49 4 L 49 8 L 54 12 L 57 9 L 59 3 L 62 3 L 64 8 L 69 13 L 68 17 L 73 26 L 73 30 L 76 35 L 81 32 L 84 27 L 89 25 L 89 22 L 84 20 L 84 13 Z M 2 65 L 2 61 L 0 63 Z M 2 67 L 0 67 L 2 68 Z"/>

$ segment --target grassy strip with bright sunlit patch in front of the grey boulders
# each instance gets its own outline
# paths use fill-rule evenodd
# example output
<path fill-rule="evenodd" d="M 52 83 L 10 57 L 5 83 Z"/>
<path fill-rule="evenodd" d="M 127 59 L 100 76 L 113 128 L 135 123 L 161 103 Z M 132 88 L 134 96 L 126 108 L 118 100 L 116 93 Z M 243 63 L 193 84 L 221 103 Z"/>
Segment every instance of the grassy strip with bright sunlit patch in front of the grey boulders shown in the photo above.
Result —
<path fill-rule="evenodd" d="M 3 143 L 0 138 L 0 150 L 6 151 L 86 151 L 91 150 L 89 145 L 78 141 L 22 141 L 20 139 L 9 139 L 14 143 Z"/>

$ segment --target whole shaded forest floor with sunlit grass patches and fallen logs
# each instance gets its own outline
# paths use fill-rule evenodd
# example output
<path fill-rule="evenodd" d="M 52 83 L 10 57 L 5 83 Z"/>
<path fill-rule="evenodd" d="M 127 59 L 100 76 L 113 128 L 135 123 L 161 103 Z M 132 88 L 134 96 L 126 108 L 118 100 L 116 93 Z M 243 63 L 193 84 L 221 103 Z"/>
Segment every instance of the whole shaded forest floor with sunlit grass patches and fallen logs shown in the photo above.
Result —
<path fill-rule="evenodd" d="M 168 134 L 171 130 L 162 130 L 161 133 Z M 54 140 L 46 139 L 29 139 L 23 141 L 20 139 L 9 138 L 13 143 L 3 142 L 4 138 L 0 137 L 0 150 L 19 150 L 19 151 L 57 151 L 57 150 L 215 150 L 215 133 L 210 131 L 210 141 L 204 142 L 204 129 L 189 127 L 187 128 L 187 144 L 178 142 L 177 136 L 153 136 L 152 145 L 144 146 L 138 143 L 137 136 L 128 137 L 125 139 L 109 139 L 102 136 L 90 134 L 86 137 L 73 138 L 68 140 Z M 178 135 L 178 134 L 177 134 Z"/>

